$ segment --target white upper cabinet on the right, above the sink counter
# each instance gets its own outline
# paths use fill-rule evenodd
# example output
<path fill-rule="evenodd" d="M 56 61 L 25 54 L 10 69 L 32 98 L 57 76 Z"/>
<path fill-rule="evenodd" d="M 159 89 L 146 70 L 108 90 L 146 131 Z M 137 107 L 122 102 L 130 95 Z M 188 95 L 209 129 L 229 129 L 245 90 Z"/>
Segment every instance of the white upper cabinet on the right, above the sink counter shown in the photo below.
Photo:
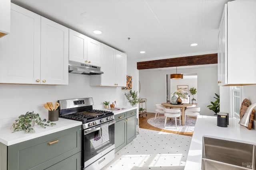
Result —
<path fill-rule="evenodd" d="M 218 84 L 256 84 L 256 1 L 225 5 L 218 35 Z"/>

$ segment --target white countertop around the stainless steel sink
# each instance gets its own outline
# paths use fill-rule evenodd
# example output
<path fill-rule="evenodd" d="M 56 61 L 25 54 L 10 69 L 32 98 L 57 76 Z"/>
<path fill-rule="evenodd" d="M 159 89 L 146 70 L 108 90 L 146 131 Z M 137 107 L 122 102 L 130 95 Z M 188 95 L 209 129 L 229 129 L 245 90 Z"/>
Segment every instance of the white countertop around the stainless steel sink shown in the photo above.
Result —
<path fill-rule="evenodd" d="M 198 115 L 184 170 L 201 170 L 203 135 L 255 144 L 256 130 L 249 130 L 238 122 L 239 119 L 230 118 L 228 127 L 218 127 L 217 117 Z"/>

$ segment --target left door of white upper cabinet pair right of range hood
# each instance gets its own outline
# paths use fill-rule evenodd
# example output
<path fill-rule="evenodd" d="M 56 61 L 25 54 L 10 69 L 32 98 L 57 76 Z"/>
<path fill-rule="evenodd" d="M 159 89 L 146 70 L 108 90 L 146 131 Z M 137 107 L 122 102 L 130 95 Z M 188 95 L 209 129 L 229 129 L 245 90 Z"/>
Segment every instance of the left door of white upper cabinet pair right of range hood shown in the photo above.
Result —
<path fill-rule="evenodd" d="M 104 74 L 101 74 L 101 86 L 114 86 L 115 84 L 115 63 L 116 50 L 112 47 L 102 44 L 102 67 L 101 70 Z"/>

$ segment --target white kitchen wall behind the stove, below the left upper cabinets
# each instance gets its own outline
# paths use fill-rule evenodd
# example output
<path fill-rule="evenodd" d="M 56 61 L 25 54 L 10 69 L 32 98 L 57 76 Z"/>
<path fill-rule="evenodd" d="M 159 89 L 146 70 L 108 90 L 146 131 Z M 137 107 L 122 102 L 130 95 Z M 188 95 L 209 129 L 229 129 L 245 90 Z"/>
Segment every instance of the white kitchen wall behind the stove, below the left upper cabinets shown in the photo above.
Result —
<path fill-rule="evenodd" d="M 138 70 L 135 64 L 133 61 L 128 61 L 127 64 L 127 74 L 133 78 L 133 90 L 138 88 Z M 68 85 L 0 84 L 0 121 L 14 120 L 27 111 L 34 111 L 42 118 L 48 118 L 44 103 L 71 98 L 92 97 L 93 107 L 96 109 L 103 108 L 102 102 L 105 100 L 116 101 L 118 106 L 130 106 L 124 96 L 128 90 L 121 90 L 121 87 L 90 86 L 89 75 L 69 73 L 68 76 Z"/>

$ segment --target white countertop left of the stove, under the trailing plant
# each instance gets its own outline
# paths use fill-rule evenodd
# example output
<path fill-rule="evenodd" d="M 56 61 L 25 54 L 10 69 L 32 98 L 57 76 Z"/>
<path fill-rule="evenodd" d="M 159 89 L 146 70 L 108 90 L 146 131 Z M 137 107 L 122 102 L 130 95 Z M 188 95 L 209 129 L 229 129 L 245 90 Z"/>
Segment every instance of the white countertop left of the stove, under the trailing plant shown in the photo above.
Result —
<path fill-rule="evenodd" d="M 16 143 L 28 141 L 30 139 L 82 125 L 81 121 L 63 119 L 60 117 L 58 121 L 54 121 L 53 123 L 56 123 L 56 125 L 52 127 L 48 126 L 45 129 L 35 124 L 33 127 L 36 131 L 35 133 L 24 133 L 23 131 L 12 133 L 13 129 L 10 128 L 11 125 L 8 127 L 0 127 L 0 142 L 4 145 L 10 146 Z"/>

